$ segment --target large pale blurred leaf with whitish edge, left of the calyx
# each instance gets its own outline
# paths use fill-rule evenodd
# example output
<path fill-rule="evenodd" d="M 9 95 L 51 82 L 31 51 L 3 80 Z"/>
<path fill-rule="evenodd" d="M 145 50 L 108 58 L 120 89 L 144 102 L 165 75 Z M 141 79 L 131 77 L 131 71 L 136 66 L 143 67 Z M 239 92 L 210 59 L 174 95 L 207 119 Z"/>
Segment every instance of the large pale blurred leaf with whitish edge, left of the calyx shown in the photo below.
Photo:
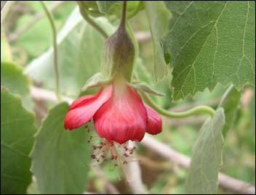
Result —
<path fill-rule="evenodd" d="M 112 26 L 104 19 L 95 20 L 108 34 Z M 82 20 L 79 9 L 68 18 L 58 36 L 58 67 L 60 89 L 66 96 L 76 97 L 84 83 L 100 70 L 104 38 L 91 25 Z M 34 59 L 25 72 L 50 90 L 55 88 L 52 48 Z"/>

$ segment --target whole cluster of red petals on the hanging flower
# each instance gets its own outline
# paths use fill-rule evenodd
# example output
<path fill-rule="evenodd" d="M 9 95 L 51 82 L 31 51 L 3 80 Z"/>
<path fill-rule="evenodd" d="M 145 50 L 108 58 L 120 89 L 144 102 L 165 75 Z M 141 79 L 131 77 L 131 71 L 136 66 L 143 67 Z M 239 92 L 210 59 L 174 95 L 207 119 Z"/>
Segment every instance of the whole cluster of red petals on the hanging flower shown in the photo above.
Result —
<path fill-rule="evenodd" d="M 161 117 L 143 104 L 134 88 L 124 80 L 114 80 L 95 95 L 81 96 L 73 101 L 65 116 L 65 128 L 79 128 L 93 118 L 101 138 L 123 144 L 141 141 L 145 132 L 161 132 Z"/>

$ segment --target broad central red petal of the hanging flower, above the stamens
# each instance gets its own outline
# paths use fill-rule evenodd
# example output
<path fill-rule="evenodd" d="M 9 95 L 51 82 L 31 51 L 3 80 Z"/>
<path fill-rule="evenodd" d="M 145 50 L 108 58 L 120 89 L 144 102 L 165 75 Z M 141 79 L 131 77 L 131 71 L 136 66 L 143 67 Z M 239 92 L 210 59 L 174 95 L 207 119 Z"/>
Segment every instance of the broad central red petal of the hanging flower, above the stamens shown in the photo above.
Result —
<path fill-rule="evenodd" d="M 129 86 L 114 88 L 113 96 L 93 117 L 100 137 L 123 144 L 140 141 L 145 135 L 147 112 L 140 96 Z"/>

